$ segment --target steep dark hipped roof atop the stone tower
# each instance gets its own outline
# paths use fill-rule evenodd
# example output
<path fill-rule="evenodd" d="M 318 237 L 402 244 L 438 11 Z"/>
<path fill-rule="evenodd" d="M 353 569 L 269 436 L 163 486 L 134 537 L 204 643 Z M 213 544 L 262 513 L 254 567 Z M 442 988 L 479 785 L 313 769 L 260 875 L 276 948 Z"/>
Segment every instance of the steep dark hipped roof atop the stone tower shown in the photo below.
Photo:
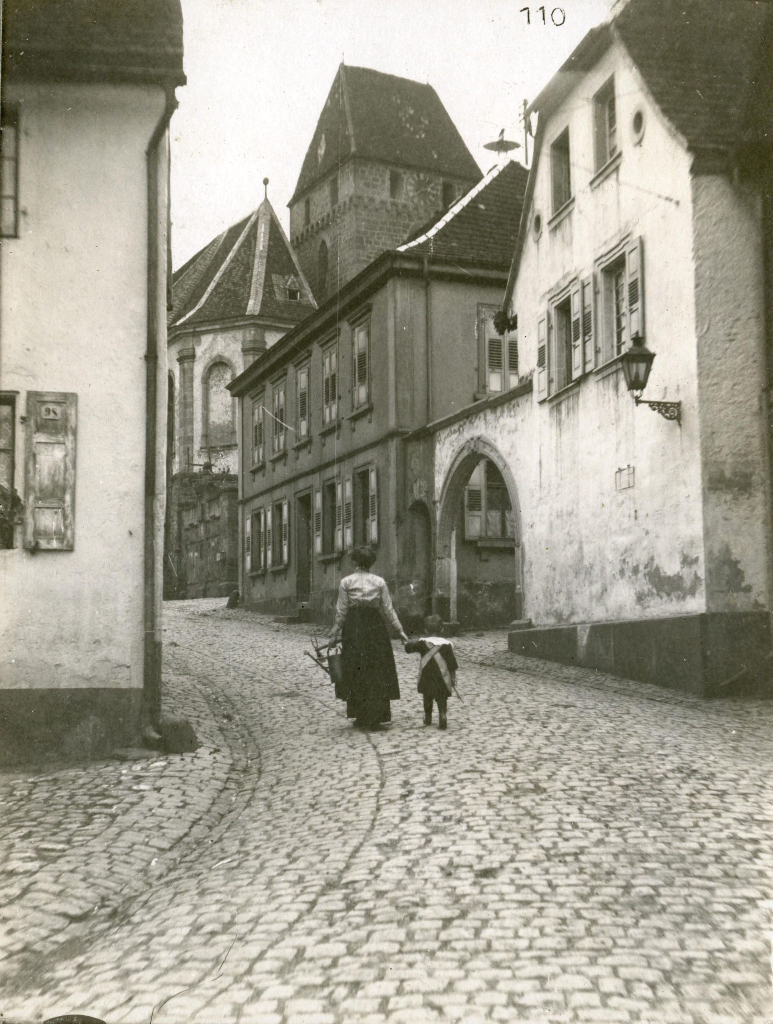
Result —
<path fill-rule="evenodd" d="M 481 176 L 431 85 L 341 65 L 290 204 L 354 156 L 468 181 Z"/>

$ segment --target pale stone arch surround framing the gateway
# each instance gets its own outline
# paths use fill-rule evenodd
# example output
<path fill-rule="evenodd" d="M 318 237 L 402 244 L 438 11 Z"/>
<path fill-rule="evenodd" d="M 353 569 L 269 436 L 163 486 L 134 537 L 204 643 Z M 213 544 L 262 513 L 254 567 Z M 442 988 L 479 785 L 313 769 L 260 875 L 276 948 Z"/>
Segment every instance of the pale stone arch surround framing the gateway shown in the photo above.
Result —
<path fill-rule="evenodd" d="M 445 474 L 438 503 L 435 532 L 435 585 L 433 610 L 448 621 L 457 618 L 457 559 L 455 523 L 460 503 L 470 477 L 481 459 L 488 459 L 499 469 L 507 485 L 515 522 L 513 583 L 516 595 L 516 618 L 523 617 L 523 546 L 521 509 L 512 470 L 499 449 L 485 437 L 472 437 L 457 452 Z"/>

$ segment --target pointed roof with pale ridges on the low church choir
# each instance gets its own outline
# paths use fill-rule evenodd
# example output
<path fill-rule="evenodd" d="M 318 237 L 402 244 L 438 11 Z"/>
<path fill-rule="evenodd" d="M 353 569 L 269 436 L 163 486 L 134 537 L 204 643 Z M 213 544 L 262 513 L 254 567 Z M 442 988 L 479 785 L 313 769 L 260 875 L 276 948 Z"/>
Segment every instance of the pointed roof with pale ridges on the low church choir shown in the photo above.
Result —
<path fill-rule="evenodd" d="M 291 301 L 289 293 L 299 292 Z M 299 324 L 316 308 L 273 207 L 263 203 L 174 274 L 170 328 L 262 316 Z"/>

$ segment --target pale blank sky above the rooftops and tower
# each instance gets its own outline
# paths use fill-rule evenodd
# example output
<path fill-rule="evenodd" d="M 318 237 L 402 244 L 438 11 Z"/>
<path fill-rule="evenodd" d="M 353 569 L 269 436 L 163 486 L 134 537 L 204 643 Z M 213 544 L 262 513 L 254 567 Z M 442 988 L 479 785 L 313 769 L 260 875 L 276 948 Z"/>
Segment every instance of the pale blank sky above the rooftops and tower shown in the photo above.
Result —
<path fill-rule="evenodd" d="M 612 0 L 182 0 L 185 72 L 172 121 L 174 266 L 268 196 L 287 202 L 341 59 L 429 82 L 482 171 Z M 551 17 L 563 25 L 556 26 Z M 522 158 L 522 150 L 514 154 Z"/>

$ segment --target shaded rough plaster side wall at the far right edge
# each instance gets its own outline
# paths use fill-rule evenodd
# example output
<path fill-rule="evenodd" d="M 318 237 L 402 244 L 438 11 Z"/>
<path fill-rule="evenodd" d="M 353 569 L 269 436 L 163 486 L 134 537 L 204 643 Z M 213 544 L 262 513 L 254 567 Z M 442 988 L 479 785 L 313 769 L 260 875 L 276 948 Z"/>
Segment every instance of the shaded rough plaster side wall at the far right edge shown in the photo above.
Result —
<path fill-rule="evenodd" d="M 693 180 L 708 611 L 770 607 L 762 200 Z"/>

